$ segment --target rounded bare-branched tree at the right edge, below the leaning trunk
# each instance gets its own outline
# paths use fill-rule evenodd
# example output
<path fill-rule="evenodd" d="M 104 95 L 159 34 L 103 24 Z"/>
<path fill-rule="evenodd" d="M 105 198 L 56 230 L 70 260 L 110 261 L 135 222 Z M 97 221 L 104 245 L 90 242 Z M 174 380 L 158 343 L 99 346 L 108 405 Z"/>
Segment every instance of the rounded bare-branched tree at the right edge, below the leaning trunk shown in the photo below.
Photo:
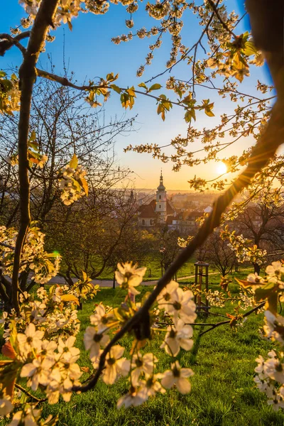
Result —
<path fill-rule="evenodd" d="M 234 234 L 225 231 L 226 241 L 239 252 L 239 260 L 249 261 L 258 274 L 261 266 L 284 249 L 283 187 L 271 186 L 260 187 L 254 202 L 249 192 L 245 200 L 234 204 L 224 215 L 225 228 L 234 230 Z"/>

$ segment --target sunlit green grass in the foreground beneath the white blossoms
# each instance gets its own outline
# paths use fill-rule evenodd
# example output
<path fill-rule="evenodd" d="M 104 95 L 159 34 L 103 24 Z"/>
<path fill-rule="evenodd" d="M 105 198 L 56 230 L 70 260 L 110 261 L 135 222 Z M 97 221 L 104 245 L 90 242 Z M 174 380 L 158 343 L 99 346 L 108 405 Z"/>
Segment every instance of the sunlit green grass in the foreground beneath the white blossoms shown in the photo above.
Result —
<path fill-rule="evenodd" d="M 148 290 L 143 287 L 141 293 Z M 236 285 L 231 291 L 236 291 Z M 107 305 L 116 306 L 123 298 L 120 288 L 104 288 L 95 302 L 102 300 Z M 82 322 L 78 339 L 78 346 L 82 349 L 81 365 L 89 364 L 82 337 L 93 309 L 94 302 L 88 302 L 79 314 Z M 224 314 L 231 309 L 229 306 L 221 311 Z M 220 312 L 220 308 L 212 308 L 212 312 L 217 311 Z M 212 322 L 215 317 L 209 318 Z M 206 321 L 204 317 L 199 320 Z M 120 378 L 113 386 L 99 381 L 94 390 L 73 395 L 70 403 L 43 405 L 43 416 L 58 413 L 60 426 L 283 426 L 283 411 L 275 413 L 267 405 L 265 395 L 253 383 L 254 360 L 258 354 L 265 355 L 272 347 L 270 342 L 258 337 L 257 330 L 262 320 L 262 315 L 253 314 L 237 333 L 222 326 L 202 337 L 198 337 L 202 327 L 195 327 L 192 351 L 181 351 L 178 355 L 180 364 L 195 372 L 189 395 L 168 391 L 167 395 L 151 398 L 138 408 L 116 410 L 116 401 L 126 393 L 128 381 Z M 124 337 L 121 344 L 129 349 L 130 339 Z M 160 342 L 155 340 L 146 346 L 146 351 L 155 351 L 158 366 L 164 371 L 170 366 L 170 357 L 159 349 L 159 345 Z M 84 376 L 87 377 L 86 374 Z"/>

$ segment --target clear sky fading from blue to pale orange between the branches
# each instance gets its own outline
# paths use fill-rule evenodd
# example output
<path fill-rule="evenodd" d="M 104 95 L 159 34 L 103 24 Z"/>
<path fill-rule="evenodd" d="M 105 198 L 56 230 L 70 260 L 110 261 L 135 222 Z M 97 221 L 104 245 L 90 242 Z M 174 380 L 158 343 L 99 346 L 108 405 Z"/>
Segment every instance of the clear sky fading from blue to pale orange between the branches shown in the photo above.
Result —
<path fill-rule="evenodd" d="M 232 9 L 235 9 L 240 14 L 243 13 L 244 7 L 242 1 L 230 0 L 226 1 Z M 146 26 L 147 29 L 151 26 L 158 26 L 158 21 L 148 18 L 143 10 L 144 3 L 139 4 L 138 13 L 133 15 L 135 26 L 133 33 L 137 28 Z M 10 27 L 18 25 L 21 17 L 25 16 L 23 7 L 18 4 L 18 0 L 9 0 L 9 2 L 1 1 L 0 4 L 0 32 L 9 32 Z M 145 38 L 139 40 L 133 38 L 129 43 L 121 43 L 114 45 L 111 43 L 111 37 L 127 33 L 129 31 L 125 26 L 125 19 L 129 18 L 126 9 L 119 5 L 110 5 L 109 11 L 104 16 L 94 15 L 92 13 L 80 14 L 78 18 L 72 20 L 73 30 L 70 31 L 67 26 L 60 27 L 53 34 L 56 39 L 53 43 L 47 43 L 46 53 L 40 55 L 40 63 L 46 67 L 48 63 L 47 54 L 50 54 L 53 64 L 56 66 L 57 72 L 62 73 L 62 52 L 63 52 L 63 33 L 65 33 L 65 59 L 69 63 L 69 70 L 75 72 L 75 77 L 78 82 L 91 79 L 94 77 L 104 77 L 108 72 L 119 73 L 117 84 L 122 86 L 136 86 L 143 81 L 148 80 L 165 69 L 165 62 L 168 60 L 170 52 L 170 38 L 163 39 L 162 47 L 155 52 L 155 58 L 150 67 L 146 67 L 146 72 L 143 77 L 136 77 L 136 70 L 139 65 L 144 63 L 144 58 L 148 53 L 148 45 L 153 43 L 153 40 Z M 64 30 L 63 30 L 64 27 Z M 243 22 L 243 28 L 248 28 L 247 19 Z M 241 31 L 241 28 L 240 28 Z M 195 16 L 191 12 L 185 15 L 185 25 L 182 29 L 182 38 L 185 45 L 192 45 L 198 38 L 200 26 L 197 23 Z M 16 48 L 9 50 L 4 58 L 0 58 L 0 68 L 5 69 L 11 65 L 21 64 L 21 54 Z M 173 69 L 172 75 L 180 78 L 186 78 L 190 74 L 190 70 L 181 65 Z M 156 82 L 165 84 L 169 77 L 168 73 L 160 77 Z M 256 79 L 267 81 L 268 76 L 265 75 L 265 70 L 255 68 L 251 72 L 251 78 L 246 79 L 242 84 L 242 91 L 246 89 L 251 91 L 251 81 Z M 161 89 L 159 93 L 166 93 L 165 89 Z M 167 93 L 166 93 L 167 94 Z M 175 99 L 173 94 L 168 93 L 168 96 Z M 218 99 L 216 95 L 210 92 L 210 96 L 214 104 L 214 114 L 216 118 L 209 118 L 204 114 L 197 116 L 199 126 L 202 129 L 204 126 L 214 126 L 217 123 L 219 114 L 225 110 L 229 112 L 232 107 L 226 100 Z M 207 99 L 208 92 L 197 92 L 197 97 Z M 126 165 L 133 170 L 134 185 L 142 188 L 153 188 L 158 185 L 158 176 L 160 168 L 163 168 L 165 176 L 165 185 L 168 189 L 188 190 L 189 185 L 187 180 L 190 180 L 196 174 L 204 178 L 217 177 L 216 163 L 201 165 L 197 168 L 184 167 L 178 173 L 171 170 L 170 163 L 163 164 L 159 160 L 153 160 L 149 154 L 124 153 L 125 148 L 129 143 L 136 145 L 138 143 L 169 143 L 171 138 L 174 138 L 179 133 L 185 134 L 187 126 L 183 120 L 183 111 L 180 108 L 174 108 L 166 117 L 165 122 L 156 114 L 156 105 L 153 99 L 146 97 L 138 97 L 136 105 L 131 111 L 127 111 L 126 116 L 134 116 L 138 114 L 137 123 L 135 125 L 137 131 L 130 133 L 128 136 L 118 136 L 116 138 L 116 153 L 118 161 L 121 165 Z M 124 115 L 124 110 L 119 102 L 119 95 L 111 96 L 111 99 L 106 104 L 107 117 Z M 240 151 L 244 149 L 249 141 L 244 141 L 240 145 Z M 199 146 L 198 143 L 196 145 Z M 232 155 L 230 152 L 224 153 L 226 156 Z"/>

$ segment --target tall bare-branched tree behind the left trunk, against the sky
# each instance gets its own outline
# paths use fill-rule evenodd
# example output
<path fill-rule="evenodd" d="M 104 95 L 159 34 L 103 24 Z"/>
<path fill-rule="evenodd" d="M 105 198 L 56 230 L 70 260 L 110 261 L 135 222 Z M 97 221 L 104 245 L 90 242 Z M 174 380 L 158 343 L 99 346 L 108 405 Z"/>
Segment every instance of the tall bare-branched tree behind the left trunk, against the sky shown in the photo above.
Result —
<path fill-rule="evenodd" d="M 71 72 L 70 80 L 74 79 Z M 31 218 L 43 225 L 50 209 L 60 209 L 58 174 L 73 153 L 87 171 L 94 196 L 126 178 L 129 170 L 116 163 L 113 148 L 116 136 L 131 131 L 132 124 L 133 119 L 123 118 L 106 123 L 104 107 L 91 109 L 75 89 L 39 80 L 33 90 L 30 127 L 36 134 L 35 151 L 44 153 L 48 160 L 42 168 L 36 163 L 30 168 Z M 18 222 L 19 184 L 15 168 L 5 158 L 16 158 L 18 115 L 0 115 L 0 129 L 0 219 L 10 225 Z"/>

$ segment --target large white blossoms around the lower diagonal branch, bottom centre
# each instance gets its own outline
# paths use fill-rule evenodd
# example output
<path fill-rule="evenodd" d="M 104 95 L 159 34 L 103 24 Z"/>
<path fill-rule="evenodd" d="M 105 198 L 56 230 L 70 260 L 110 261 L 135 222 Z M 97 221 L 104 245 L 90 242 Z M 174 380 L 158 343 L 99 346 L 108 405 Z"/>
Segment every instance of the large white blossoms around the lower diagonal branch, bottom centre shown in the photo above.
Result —
<path fill-rule="evenodd" d="M 116 280 L 121 288 L 127 291 L 126 300 L 121 307 L 107 310 L 100 304 L 90 317 L 91 326 L 87 327 L 84 334 L 84 345 L 92 361 L 94 368 L 98 368 L 103 348 L 107 346 L 109 351 L 105 359 L 102 370 L 102 380 L 104 383 L 112 384 L 118 376 L 128 376 L 130 381 L 129 393 L 119 398 L 117 403 L 122 405 L 140 405 L 148 400 L 155 393 L 165 393 L 168 388 L 176 386 L 181 393 L 190 392 L 190 382 L 188 377 L 193 372 L 190 368 L 181 368 L 177 360 L 173 360 L 171 368 L 163 373 L 155 373 L 157 357 L 150 352 L 142 353 L 150 335 L 164 332 L 165 337 L 160 345 L 161 349 L 175 358 L 180 349 L 190 350 L 192 348 L 192 327 L 187 322 L 194 322 L 196 318 L 195 303 L 192 300 L 193 294 L 190 290 L 183 291 L 178 283 L 171 281 L 157 298 L 157 307 L 151 311 L 151 332 L 141 336 L 141 331 L 136 330 L 136 339 L 130 352 L 130 359 L 123 357 L 124 347 L 116 344 L 111 346 L 111 333 L 129 320 L 141 307 L 141 303 L 133 302 L 134 297 L 139 294 L 136 287 L 143 280 L 146 268 L 137 268 L 132 263 L 118 265 Z M 155 328 L 157 313 L 165 312 L 170 317 L 171 324 L 167 329 Z M 143 319 L 142 319 L 143 321 Z"/>

